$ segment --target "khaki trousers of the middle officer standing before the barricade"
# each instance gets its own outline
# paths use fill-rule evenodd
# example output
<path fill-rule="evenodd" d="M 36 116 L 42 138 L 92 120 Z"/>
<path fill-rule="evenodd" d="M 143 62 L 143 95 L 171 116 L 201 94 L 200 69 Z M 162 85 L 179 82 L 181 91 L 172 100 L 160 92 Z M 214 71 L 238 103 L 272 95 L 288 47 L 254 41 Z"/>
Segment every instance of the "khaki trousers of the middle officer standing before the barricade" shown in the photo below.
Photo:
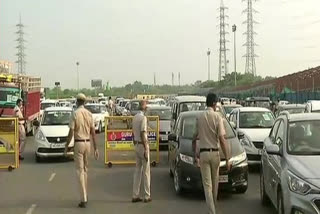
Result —
<path fill-rule="evenodd" d="M 148 162 L 144 158 L 144 146 L 142 144 L 135 145 L 136 152 L 136 169 L 133 178 L 133 198 L 140 197 L 140 185 L 143 175 L 144 198 L 150 198 L 150 151 L 148 152 Z"/>

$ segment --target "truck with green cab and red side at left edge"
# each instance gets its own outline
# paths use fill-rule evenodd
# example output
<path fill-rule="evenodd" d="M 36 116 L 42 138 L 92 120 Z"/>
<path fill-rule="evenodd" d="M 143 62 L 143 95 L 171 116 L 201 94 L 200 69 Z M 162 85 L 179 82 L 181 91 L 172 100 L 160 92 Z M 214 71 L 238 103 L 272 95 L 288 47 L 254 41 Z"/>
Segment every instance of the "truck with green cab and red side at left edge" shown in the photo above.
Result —
<path fill-rule="evenodd" d="M 14 116 L 16 101 L 23 100 L 26 133 L 33 134 L 33 122 L 40 119 L 41 78 L 0 73 L 0 116 Z"/>

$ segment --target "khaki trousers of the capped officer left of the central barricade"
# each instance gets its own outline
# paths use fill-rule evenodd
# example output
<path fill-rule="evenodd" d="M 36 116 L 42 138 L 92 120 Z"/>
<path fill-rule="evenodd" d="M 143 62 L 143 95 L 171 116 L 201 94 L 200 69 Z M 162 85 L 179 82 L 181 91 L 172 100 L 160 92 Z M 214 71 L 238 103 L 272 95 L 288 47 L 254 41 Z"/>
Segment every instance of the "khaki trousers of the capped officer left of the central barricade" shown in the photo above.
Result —
<path fill-rule="evenodd" d="M 90 154 L 90 142 L 75 142 L 74 160 L 79 179 L 80 200 L 86 202 L 88 199 L 88 156 Z"/>

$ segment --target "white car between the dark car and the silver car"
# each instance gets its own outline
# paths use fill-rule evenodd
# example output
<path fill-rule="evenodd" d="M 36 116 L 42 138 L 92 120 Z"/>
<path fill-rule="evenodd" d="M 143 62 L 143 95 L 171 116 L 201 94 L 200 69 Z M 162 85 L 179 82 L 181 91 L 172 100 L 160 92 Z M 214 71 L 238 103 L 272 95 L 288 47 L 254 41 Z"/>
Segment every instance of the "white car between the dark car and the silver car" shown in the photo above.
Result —
<path fill-rule="evenodd" d="M 272 112 L 266 108 L 241 107 L 230 113 L 229 121 L 246 150 L 248 163 L 260 164 L 263 142 L 274 123 Z"/>

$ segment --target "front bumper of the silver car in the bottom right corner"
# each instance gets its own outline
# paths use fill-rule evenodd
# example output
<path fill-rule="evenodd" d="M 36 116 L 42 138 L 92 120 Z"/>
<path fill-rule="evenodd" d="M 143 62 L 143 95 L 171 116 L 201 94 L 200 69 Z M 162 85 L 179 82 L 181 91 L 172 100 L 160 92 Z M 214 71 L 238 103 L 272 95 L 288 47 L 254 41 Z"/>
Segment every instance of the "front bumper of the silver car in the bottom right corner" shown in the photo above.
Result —
<path fill-rule="evenodd" d="M 288 197 L 285 197 L 287 195 Z M 320 195 L 299 195 L 287 189 L 287 194 L 284 193 L 284 208 L 285 213 L 290 214 L 295 211 L 303 214 L 320 214 Z"/>

